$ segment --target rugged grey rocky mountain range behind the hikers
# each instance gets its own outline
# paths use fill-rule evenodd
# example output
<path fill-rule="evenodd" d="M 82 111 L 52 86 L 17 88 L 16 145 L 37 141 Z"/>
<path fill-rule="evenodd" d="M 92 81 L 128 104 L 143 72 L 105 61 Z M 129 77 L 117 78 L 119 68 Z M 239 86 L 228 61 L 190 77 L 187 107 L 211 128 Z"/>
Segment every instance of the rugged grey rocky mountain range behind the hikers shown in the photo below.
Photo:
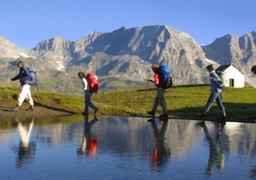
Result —
<path fill-rule="evenodd" d="M 256 33 L 232 34 L 201 46 L 187 33 L 167 25 L 144 26 L 110 33 L 94 31 L 77 41 L 56 36 L 31 50 L 19 48 L 0 36 L 0 85 L 16 74 L 17 59 L 37 69 L 39 89 L 81 94 L 78 71 L 95 72 L 101 91 L 145 87 L 152 64 L 170 68 L 174 84 L 208 83 L 206 66 L 233 63 L 256 86 L 251 67 L 256 64 Z M 18 83 L 17 83 L 18 84 Z M 133 84 L 134 86 L 131 86 Z"/>

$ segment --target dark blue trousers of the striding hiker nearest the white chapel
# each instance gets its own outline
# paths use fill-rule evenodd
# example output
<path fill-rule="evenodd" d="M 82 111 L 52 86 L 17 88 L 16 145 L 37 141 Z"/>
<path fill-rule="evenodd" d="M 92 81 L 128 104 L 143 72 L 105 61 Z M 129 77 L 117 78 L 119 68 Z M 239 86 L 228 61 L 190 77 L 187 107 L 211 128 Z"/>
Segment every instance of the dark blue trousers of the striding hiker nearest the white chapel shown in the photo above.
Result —
<path fill-rule="evenodd" d="M 206 107 L 204 109 L 204 113 L 208 112 L 211 109 L 212 104 L 213 104 L 215 99 L 216 99 L 217 105 L 219 106 L 219 109 L 222 111 L 222 113 L 223 114 L 226 113 L 225 107 L 222 104 L 221 92 L 211 93 L 211 95 L 210 95 L 210 97 L 207 101 Z"/>

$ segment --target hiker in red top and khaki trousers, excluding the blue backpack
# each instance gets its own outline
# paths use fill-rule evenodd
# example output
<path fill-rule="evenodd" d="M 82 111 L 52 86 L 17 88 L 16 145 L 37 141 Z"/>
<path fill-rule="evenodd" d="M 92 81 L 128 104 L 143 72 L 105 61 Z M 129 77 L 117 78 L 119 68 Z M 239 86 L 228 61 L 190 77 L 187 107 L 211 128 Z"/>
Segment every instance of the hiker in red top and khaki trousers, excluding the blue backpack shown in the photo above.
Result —
<path fill-rule="evenodd" d="M 157 106 L 160 104 L 160 106 L 162 106 L 162 110 L 164 114 L 161 114 L 159 117 L 168 117 L 168 111 L 167 111 L 167 106 L 165 102 L 165 89 L 159 86 L 162 81 L 161 81 L 158 69 L 159 69 L 159 66 L 157 64 L 152 65 L 152 71 L 154 72 L 154 81 L 151 80 L 150 78 L 147 78 L 148 81 L 156 84 L 157 86 L 157 96 L 155 97 L 152 111 L 149 111 L 148 114 L 154 116 L 157 110 Z"/>

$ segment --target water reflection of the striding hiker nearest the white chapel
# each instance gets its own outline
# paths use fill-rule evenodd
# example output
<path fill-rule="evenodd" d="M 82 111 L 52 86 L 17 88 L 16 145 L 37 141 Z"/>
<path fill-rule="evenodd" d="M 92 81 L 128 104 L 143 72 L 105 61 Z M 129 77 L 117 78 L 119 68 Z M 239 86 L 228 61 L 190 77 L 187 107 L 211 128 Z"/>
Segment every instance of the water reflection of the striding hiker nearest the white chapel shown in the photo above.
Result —
<path fill-rule="evenodd" d="M 216 134 L 213 134 L 212 136 L 210 136 L 204 121 L 198 123 L 197 125 L 200 125 L 200 127 L 204 129 L 206 139 L 208 140 L 210 145 L 209 162 L 206 169 L 206 174 L 211 175 L 214 166 L 217 167 L 219 170 L 223 170 L 225 166 L 225 153 L 223 152 L 223 150 L 221 150 L 219 137 L 222 134 L 222 130 L 225 124 L 222 123 L 221 126 L 219 126 L 219 123 L 215 123 L 214 127 L 217 128 L 217 131 L 215 131 Z"/>

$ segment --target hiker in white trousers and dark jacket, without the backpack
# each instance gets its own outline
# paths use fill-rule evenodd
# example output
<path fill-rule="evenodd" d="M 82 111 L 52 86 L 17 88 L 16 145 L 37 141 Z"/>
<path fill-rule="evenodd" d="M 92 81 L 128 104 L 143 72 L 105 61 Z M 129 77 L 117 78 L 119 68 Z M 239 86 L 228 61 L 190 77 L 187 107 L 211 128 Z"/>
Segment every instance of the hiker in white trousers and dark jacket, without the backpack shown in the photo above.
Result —
<path fill-rule="evenodd" d="M 30 73 L 28 69 L 24 66 L 22 61 L 17 62 L 18 68 L 20 68 L 20 72 L 17 76 L 15 76 L 13 79 L 10 79 L 8 82 L 15 81 L 17 79 L 21 82 L 21 93 L 18 96 L 18 104 L 13 109 L 18 111 L 20 109 L 20 106 L 22 105 L 23 101 L 25 99 L 29 100 L 30 107 L 27 110 L 34 110 L 34 102 L 31 97 L 31 91 L 30 91 Z"/>

